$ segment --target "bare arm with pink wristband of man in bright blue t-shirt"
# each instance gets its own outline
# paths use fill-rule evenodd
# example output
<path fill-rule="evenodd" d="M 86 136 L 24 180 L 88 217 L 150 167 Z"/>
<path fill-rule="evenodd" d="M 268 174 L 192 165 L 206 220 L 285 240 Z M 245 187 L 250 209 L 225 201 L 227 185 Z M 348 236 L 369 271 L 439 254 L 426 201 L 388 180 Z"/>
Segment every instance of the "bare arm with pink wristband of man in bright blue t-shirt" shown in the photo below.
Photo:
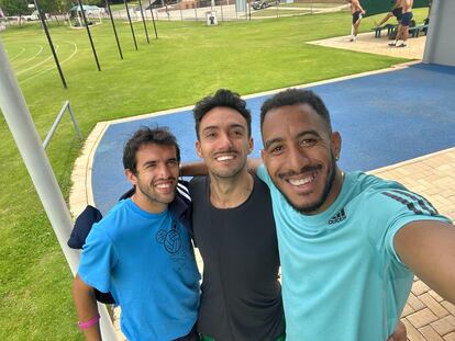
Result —
<path fill-rule="evenodd" d="M 86 322 L 98 316 L 95 291 L 91 286 L 80 280 L 79 275 L 76 275 L 75 281 L 73 282 L 73 297 L 75 299 L 77 316 L 80 322 Z M 84 336 L 87 341 L 101 341 L 99 322 L 90 328 L 84 329 Z"/>

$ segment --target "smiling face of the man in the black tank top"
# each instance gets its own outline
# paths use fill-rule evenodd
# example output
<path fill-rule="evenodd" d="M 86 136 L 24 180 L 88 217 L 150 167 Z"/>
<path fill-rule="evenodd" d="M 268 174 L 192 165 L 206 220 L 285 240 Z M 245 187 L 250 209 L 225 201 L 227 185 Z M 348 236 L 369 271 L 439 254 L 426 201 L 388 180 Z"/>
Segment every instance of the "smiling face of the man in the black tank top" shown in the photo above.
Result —
<path fill-rule="evenodd" d="M 237 111 L 217 106 L 202 117 L 196 150 L 212 177 L 226 179 L 240 174 L 252 149 L 246 120 Z"/>

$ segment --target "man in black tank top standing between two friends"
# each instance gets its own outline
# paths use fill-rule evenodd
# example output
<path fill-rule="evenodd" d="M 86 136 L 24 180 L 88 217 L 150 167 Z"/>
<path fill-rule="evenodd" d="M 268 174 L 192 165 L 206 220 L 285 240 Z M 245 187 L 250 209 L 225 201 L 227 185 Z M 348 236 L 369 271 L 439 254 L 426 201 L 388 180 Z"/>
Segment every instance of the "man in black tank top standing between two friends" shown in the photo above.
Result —
<path fill-rule="evenodd" d="M 219 90 L 193 114 L 197 152 L 209 171 L 190 183 L 195 241 L 204 263 L 198 331 L 202 340 L 285 340 L 270 195 L 246 168 L 249 111 L 236 93 Z"/>

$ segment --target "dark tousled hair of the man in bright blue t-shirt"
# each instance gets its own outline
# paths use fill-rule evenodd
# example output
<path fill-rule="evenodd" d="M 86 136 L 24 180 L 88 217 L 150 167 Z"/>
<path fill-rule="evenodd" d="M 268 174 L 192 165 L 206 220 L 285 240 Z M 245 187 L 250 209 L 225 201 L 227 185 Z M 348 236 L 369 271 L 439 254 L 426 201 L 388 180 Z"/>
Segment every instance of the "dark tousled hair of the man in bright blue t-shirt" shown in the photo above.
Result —
<path fill-rule="evenodd" d="M 133 174 L 137 174 L 137 150 L 148 144 L 174 146 L 176 148 L 177 161 L 180 162 L 180 147 L 177 144 L 176 137 L 167 127 L 141 127 L 126 141 L 123 148 L 123 168 L 131 170 Z"/>

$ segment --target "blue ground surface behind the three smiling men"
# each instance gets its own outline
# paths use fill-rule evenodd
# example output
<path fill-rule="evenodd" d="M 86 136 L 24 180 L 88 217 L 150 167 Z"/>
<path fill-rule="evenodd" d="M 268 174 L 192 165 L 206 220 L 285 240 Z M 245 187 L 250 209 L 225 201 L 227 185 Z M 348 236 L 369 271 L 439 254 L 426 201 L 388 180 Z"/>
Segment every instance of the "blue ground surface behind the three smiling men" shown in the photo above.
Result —
<path fill-rule="evenodd" d="M 419 64 L 309 89 L 321 95 L 333 129 L 342 134 L 339 163 L 346 171 L 373 170 L 455 146 L 455 67 Z M 247 99 L 253 157 L 259 157 L 262 149 L 259 109 L 269 96 Z M 123 146 L 143 125 L 169 127 L 182 161 L 198 159 L 190 111 L 110 125 L 96 150 L 91 179 L 96 205 L 103 214 L 130 187 L 123 174 Z"/>

